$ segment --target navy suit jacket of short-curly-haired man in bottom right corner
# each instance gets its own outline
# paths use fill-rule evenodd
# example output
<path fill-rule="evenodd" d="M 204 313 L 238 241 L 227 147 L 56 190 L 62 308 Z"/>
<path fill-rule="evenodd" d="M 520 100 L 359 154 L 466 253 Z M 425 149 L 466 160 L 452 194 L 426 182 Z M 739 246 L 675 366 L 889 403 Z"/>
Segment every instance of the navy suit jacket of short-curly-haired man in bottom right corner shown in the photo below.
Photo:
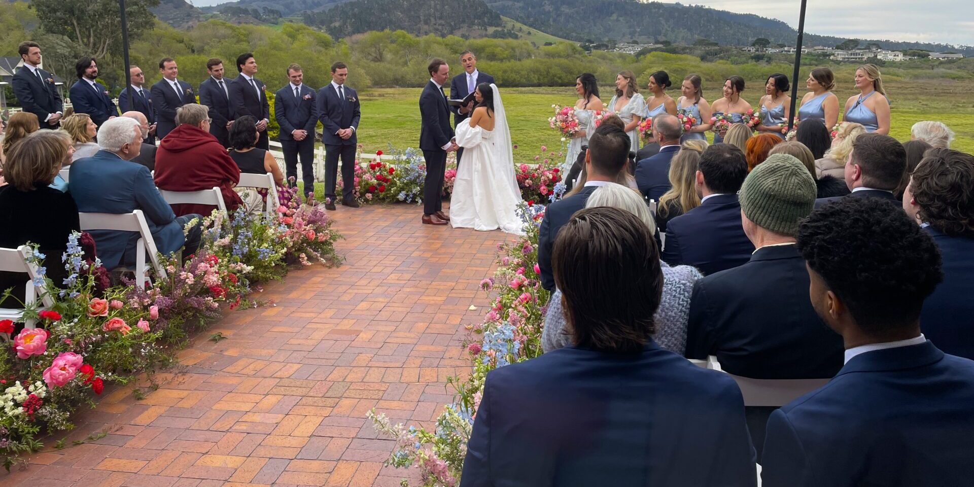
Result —
<path fill-rule="evenodd" d="M 970 485 L 974 362 L 932 342 L 854 356 L 774 411 L 766 487 Z"/>

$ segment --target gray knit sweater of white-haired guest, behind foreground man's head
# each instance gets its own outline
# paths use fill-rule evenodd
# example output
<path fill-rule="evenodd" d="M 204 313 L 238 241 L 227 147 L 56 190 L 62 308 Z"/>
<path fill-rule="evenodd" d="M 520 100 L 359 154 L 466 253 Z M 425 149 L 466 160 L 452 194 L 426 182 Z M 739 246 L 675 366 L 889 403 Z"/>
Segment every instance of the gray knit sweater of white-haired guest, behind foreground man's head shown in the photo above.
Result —
<path fill-rule="evenodd" d="M 653 340 L 663 349 L 683 356 L 687 348 L 687 318 L 690 316 L 693 282 L 703 275 L 691 266 L 670 267 L 661 261 L 659 265 L 663 272 L 663 295 L 654 316 L 656 335 Z M 565 327 L 565 314 L 561 311 L 561 291 L 555 289 L 544 316 L 544 352 L 572 345 L 572 337 Z"/>

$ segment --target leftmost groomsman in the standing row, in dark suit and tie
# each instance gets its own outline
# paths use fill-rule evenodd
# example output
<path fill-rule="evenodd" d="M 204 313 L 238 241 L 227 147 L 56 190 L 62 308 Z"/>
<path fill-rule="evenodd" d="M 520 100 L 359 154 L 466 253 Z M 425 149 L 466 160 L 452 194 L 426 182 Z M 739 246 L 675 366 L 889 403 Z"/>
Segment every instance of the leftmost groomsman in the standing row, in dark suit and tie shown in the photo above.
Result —
<path fill-rule="evenodd" d="M 56 129 L 64 107 L 54 77 L 40 68 L 41 46 L 33 41 L 23 41 L 18 52 L 23 65 L 14 74 L 14 95 L 20 100 L 23 111 L 37 115 L 41 129 Z"/>

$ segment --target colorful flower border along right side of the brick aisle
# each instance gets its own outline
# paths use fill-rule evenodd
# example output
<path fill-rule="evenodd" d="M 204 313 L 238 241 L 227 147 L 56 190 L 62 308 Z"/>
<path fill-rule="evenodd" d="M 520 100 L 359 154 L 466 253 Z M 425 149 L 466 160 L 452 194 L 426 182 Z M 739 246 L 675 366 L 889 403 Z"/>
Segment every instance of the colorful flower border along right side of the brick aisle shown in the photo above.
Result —
<path fill-rule="evenodd" d="M 478 337 L 464 345 L 473 369 L 466 380 L 449 381 L 457 389 L 455 401 L 436 419 L 435 429 L 407 428 L 374 410 L 369 412 L 374 427 L 395 440 L 386 465 L 418 467 L 424 487 L 454 487 L 459 483 L 487 373 L 543 353 L 543 317 L 549 294 L 541 286 L 538 232 L 544 207 L 522 204 L 518 211 L 526 235 L 500 246 L 503 256 L 497 272 L 480 282 L 484 290 L 496 292 L 497 297 L 484 321 L 469 327 Z M 403 480 L 402 485 L 408 482 Z"/>

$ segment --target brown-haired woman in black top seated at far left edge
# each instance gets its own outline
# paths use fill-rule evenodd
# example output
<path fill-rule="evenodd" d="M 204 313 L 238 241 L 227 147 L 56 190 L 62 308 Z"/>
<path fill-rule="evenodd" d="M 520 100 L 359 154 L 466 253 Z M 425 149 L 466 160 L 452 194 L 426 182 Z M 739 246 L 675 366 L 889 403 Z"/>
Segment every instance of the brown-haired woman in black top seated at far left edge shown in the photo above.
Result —
<path fill-rule="evenodd" d="M 37 244 L 48 256 L 47 275 L 56 285 L 66 277 L 60 255 L 67 248 L 67 239 L 71 232 L 81 231 L 78 206 L 71 195 L 51 187 L 61 165 L 71 160 L 73 150 L 71 139 L 63 131 L 35 131 L 24 136 L 7 154 L 4 178 L 8 184 L 0 187 L 0 247 Z M 0 298 L 5 290 L 14 288 L 0 306 L 20 308 L 26 281 L 26 274 L 0 272 Z"/>

